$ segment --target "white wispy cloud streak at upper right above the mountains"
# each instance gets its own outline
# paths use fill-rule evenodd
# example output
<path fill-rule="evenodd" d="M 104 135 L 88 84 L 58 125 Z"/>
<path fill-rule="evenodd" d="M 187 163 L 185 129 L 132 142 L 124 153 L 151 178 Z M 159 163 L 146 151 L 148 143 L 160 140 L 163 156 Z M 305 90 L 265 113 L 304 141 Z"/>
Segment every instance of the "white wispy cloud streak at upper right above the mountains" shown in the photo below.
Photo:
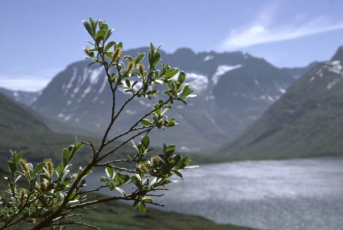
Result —
<path fill-rule="evenodd" d="M 343 21 L 334 22 L 325 16 L 306 19 L 305 15 L 298 15 L 293 22 L 276 26 L 273 22 L 276 21 L 277 9 L 278 6 L 274 5 L 263 11 L 258 15 L 254 23 L 245 26 L 244 29 L 231 30 L 230 36 L 222 42 L 220 48 L 232 50 L 343 29 Z"/>

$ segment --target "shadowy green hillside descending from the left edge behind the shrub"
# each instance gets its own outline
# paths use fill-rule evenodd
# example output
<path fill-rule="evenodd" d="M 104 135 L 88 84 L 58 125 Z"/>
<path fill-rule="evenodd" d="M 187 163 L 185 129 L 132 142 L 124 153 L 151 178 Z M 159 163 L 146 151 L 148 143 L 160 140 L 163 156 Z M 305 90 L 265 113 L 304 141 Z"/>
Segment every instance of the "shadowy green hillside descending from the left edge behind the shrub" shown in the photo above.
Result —
<path fill-rule="evenodd" d="M 99 138 L 80 135 L 81 132 L 88 133 L 90 131 L 43 117 L 0 93 L 0 173 L 1 169 L 7 168 L 10 150 L 23 151 L 24 157 L 35 164 L 45 158 L 50 158 L 54 162 L 61 161 L 62 149 L 74 143 L 75 135 L 77 135 L 78 140 L 91 141 L 95 146 L 99 146 L 101 141 Z M 116 146 L 121 143 L 121 141 L 115 141 L 113 145 Z M 110 150 L 110 147 L 104 148 L 104 151 Z M 161 147 L 160 143 L 151 154 L 157 154 L 161 150 L 159 147 Z M 131 143 L 126 144 L 119 149 L 116 157 L 125 159 L 127 154 L 133 152 L 134 148 Z M 87 164 L 87 161 L 91 159 L 92 151 L 85 146 L 80 150 L 79 155 L 82 157 L 75 158 L 73 163 L 76 168 Z M 208 159 L 207 156 L 194 156 L 192 154 L 190 157 L 194 164 L 227 160 L 222 157 Z M 128 167 L 128 165 L 121 166 Z"/>

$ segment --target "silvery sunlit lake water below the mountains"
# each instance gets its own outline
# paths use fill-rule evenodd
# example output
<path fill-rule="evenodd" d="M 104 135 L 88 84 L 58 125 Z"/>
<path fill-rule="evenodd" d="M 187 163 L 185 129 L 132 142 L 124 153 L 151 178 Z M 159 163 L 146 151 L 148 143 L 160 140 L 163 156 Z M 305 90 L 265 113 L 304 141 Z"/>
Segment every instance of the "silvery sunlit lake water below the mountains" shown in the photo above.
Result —
<path fill-rule="evenodd" d="M 220 223 L 273 230 L 343 229 L 343 157 L 203 165 L 187 171 L 184 179 L 169 184 L 170 191 L 154 200 L 167 210 Z"/>

